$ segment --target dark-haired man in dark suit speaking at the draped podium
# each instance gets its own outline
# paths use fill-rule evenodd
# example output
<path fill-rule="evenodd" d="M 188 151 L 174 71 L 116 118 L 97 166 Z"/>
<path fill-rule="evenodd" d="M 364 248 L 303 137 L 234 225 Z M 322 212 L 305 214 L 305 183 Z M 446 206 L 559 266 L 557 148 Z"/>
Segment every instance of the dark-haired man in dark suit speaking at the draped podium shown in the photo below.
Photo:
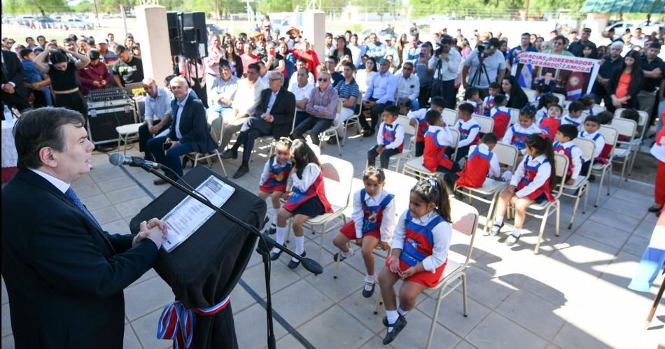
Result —
<path fill-rule="evenodd" d="M 90 172 L 85 120 L 65 108 L 24 113 L 18 168 L 2 190 L 2 276 L 16 348 L 123 348 L 123 289 L 150 269 L 166 232 L 141 222 L 109 234 L 71 183 Z"/>

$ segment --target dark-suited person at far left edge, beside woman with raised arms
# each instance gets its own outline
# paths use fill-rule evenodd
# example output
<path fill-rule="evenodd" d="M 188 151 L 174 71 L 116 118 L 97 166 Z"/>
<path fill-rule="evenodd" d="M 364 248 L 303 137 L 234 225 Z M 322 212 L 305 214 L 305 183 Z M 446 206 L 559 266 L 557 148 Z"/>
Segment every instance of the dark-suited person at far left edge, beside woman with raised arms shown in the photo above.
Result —
<path fill-rule="evenodd" d="M 30 108 L 28 92 L 23 86 L 25 70 L 14 52 L 2 52 L 2 103 L 25 111 Z"/>

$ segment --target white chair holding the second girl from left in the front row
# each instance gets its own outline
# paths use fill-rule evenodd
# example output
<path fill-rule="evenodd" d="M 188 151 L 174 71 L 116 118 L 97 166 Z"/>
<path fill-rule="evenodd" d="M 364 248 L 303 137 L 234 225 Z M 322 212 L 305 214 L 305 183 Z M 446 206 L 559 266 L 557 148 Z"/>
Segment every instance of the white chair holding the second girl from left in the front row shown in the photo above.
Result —
<path fill-rule="evenodd" d="M 321 155 L 318 157 L 321 161 L 321 169 L 323 171 L 323 185 L 325 187 L 325 197 L 332 206 L 332 213 L 323 213 L 316 217 L 309 218 L 303 224 L 303 227 L 309 229 L 312 234 L 316 234 L 316 227 L 321 227 L 321 238 L 318 242 L 318 261 L 321 262 L 321 255 L 323 253 L 323 236 L 339 229 L 346 224 L 346 216 L 344 210 L 349 206 L 351 198 L 351 183 L 353 180 L 353 164 L 337 157 L 329 155 Z M 335 222 L 335 220 L 342 220 L 342 223 Z M 290 235 L 291 225 L 288 225 L 286 232 L 286 240 Z"/>

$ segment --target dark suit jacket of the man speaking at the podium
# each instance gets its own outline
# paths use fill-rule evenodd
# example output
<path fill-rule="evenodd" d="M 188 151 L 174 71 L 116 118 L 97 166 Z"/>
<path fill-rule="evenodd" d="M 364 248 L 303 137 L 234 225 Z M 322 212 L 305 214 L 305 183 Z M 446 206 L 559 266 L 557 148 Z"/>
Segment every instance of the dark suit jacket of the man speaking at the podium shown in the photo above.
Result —
<path fill-rule="evenodd" d="M 148 239 L 102 232 L 37 173 L 2 190 L 2 276 L 16 348 L 123 348 L 123 289 L 151 268 Z"/>

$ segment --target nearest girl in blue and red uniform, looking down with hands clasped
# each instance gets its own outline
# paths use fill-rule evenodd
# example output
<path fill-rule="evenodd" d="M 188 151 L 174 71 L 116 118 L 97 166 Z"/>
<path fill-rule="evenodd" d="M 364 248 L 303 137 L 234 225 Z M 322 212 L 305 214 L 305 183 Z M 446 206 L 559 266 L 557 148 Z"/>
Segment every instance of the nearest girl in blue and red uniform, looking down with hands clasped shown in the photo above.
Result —
<path fill-rule="evenodd" d="M 440 178 L 419 180 L 411 190 L 409 208 L 404 211 L 393 232 L 391 257 L 379 273 L 381 296 L 386 307 L 384 326 L 388 327 L 384 346 L 406 327 L 406 315 L 416 298 L 439 282 L 448 260 L 452 235 L 450 201 Z M 397 306 L 394 285 L 400 287 Z"/>

